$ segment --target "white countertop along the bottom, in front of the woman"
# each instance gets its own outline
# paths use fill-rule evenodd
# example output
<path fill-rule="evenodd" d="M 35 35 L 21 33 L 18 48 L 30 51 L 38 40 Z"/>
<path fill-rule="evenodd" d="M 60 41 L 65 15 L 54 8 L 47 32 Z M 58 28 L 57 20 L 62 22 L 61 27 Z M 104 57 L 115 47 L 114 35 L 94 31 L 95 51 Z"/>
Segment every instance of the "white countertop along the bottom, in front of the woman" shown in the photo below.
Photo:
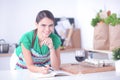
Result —
<path fill-rule="evenodd" d="M 36 78 L 28 70 L 1 70 L 0 80 L 120 80 L 120 73 L 109 71 L 73 76 Z"/>

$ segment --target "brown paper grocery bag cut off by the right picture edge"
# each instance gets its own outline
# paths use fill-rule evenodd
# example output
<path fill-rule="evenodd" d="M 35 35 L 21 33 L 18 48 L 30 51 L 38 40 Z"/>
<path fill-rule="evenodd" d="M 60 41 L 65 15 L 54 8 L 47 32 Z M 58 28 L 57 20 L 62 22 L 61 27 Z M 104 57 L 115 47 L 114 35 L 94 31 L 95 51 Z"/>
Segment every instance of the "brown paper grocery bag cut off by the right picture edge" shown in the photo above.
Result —
<path fill-rule="evenodd" d="M 110 50 L 120 47 L 120 25 L 109 25 Z"/>

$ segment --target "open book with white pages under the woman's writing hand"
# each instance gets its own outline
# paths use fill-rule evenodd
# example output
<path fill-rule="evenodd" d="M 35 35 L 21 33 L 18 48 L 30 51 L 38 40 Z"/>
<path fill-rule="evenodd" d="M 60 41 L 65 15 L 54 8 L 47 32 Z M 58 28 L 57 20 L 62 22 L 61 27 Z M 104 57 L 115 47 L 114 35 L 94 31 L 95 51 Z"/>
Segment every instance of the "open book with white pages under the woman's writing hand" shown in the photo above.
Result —
<path fill-rule="evenodd" d="M 57 71 L 50 71 L 48 74 L 41 74 L 41 73 L 33 73 L 32 76 L 37 78 L 48 78 L 48 77 L 56 77 L 56 76 L 70 76 L 72 75 L 69 72 L 65 72 L 62 70 Z"/>

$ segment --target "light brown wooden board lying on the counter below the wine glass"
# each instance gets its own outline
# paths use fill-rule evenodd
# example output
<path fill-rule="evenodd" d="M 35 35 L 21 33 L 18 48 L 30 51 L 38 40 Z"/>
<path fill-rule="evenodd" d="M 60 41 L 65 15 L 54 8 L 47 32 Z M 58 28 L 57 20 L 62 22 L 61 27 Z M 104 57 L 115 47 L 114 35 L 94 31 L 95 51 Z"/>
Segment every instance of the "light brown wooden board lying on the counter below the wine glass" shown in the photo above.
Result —
<path fill-rule="evenodd" d="M 113 66 L 105 66 L 105 67 L 96 67 L 91 66 L 85 63 L 78 64 L 62 64 L 61 69 L 72 74 L 87 74 L 87 73 L 97 73 L 97 72 L 105 72 L 105 71 L 113 71 L 115 67 Z"/>

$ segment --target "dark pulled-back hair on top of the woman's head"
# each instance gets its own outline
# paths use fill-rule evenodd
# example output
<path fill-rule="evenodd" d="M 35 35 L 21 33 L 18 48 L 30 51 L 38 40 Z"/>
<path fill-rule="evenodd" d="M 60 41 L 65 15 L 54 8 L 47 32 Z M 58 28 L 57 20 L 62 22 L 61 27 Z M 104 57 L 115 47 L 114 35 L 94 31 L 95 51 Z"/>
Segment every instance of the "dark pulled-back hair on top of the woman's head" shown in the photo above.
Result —
<path fill-rule="evenodd" d="M 36 17 L 36 23 L 39 23 L 40 20 L 42 20 L 45 17 L 51 19 L 53 22 L 55 21 L 55 18 L 54 18 L 54 15 L 52 14 L 52 12 L 50 12 L 48 10 L 42 10 L 38 13 L 38 15 Z"/>

